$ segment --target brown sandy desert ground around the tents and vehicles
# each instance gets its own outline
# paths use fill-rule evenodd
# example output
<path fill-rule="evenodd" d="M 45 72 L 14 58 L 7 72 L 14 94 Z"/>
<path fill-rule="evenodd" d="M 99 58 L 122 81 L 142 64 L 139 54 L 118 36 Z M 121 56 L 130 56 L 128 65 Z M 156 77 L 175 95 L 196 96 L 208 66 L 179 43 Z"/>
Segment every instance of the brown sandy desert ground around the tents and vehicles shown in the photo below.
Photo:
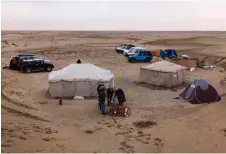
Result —
<path fill-rule="evenodd" d="M 4 41 L 7 41 L 4 42 Z M 121 43 L 149 50 L 175 48 L 179 55 L 207 57 L 224 66 L 225 32 L 2 32 L 2 66 L 18 51 L 48 57 L 55 70 L 74 63 L 111 69 L 124 89 L 132 115 L 100 115 L 97 100 L 58 100 L 46 96 L 48 73 L 24 74 L 2 69 L 2 152 L 226 152 L 226 100 L 192 105 L 175 100 L 177 89 L 125 85 L 137 81 L 144 63 L 129 64 L 115 52 Z M 226 73 L 219 68 L 186 72 L 186 82 L 204 78 L 221 95 Z M 133 122 L 156 125 L 137 128 Z"/>

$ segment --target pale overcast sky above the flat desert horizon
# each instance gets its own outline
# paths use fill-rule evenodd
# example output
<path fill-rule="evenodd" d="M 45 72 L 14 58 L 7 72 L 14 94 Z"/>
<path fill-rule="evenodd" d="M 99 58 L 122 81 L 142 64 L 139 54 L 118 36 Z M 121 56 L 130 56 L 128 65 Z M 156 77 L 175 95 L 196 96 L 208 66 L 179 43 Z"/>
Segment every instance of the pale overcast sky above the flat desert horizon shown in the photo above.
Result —
<path fill-rule="evenodd" d="M 226 0 L 6 1 L 2 30 L 226 30 Z"/>

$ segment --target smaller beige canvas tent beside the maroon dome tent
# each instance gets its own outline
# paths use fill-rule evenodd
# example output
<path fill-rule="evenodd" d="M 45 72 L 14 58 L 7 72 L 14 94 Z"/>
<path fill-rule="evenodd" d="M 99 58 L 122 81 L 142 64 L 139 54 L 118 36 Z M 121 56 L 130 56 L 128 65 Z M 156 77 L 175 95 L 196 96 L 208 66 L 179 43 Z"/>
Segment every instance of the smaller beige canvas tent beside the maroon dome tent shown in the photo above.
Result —
<path fill-rule="evenodd" d="M 185 81 L 186 67 L 168 62 L 159 61 L 141 67 L 139 81 L 155 86 L 174 87 Z"/>

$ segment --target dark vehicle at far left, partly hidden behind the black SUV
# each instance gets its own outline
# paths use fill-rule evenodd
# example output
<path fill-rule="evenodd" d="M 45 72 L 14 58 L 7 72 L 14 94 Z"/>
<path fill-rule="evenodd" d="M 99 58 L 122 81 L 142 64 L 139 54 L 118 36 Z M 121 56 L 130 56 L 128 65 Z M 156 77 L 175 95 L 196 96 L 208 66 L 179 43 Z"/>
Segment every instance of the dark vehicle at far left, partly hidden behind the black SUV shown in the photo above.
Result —
<path fill-rule="evenodd" d="M 20 70 L 19 62 L 21 61 L 21 59 L 33 58 L 34 56 L 35 55 L 33 55 L 33 54 L 18 54 L 17 56 L 12 57 L 12 59 L 10 60 L 9 68 L 15 69 L 15 70 Z"/>

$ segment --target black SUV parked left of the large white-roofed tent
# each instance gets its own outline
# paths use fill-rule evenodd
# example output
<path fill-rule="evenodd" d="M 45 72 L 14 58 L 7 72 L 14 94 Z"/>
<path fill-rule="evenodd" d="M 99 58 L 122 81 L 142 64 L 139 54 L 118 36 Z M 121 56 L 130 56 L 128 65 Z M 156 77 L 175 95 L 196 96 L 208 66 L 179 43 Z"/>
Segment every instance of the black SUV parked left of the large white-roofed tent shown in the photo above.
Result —
<path fill-rule="evenodd" d="M 51 72 L 54 68 L 53 63 L 48 59 L 43 59 L 38 56 L 33 56 L 32 58 L 23 58 L 20 62 L 20 70 L 27 73 L 32 71 L 47 71 Z"/>

